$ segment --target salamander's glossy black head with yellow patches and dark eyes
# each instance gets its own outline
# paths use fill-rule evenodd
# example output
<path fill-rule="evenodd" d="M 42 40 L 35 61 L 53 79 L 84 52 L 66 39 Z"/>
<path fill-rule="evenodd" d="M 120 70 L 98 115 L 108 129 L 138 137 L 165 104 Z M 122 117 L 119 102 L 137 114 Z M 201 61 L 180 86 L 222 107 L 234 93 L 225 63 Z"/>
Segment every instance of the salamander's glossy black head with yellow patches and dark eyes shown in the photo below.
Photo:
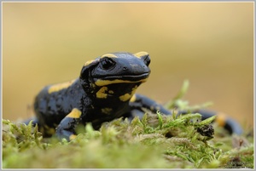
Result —
<path fill-rule="evenodd" d="M 147 81 L 149 63 L 146 52 L 103 54 L 84 64 L 80 82 L 88 95 L 98 99 L 130 100 L 137 87 Z"/>

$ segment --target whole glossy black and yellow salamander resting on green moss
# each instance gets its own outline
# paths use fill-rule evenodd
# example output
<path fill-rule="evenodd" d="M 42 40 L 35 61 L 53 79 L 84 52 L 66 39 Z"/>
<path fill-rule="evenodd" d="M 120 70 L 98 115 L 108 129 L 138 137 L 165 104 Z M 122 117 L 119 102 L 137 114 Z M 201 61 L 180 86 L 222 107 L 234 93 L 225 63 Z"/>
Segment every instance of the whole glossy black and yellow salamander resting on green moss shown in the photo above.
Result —
<path fill-rule="evenodd" d="M 78 124 L 91 123 L 98 129 L 102 123 L 119 117 L 142 117 L 143 108 L 172 114 L 162 105 L 141 94 L 135 94 L 150 74 L 147 52 L 137 54 L 103 54 L 87 61 L 80 76 L 67 83 L 46 86 L 36 96 L 33 124 L 38 124 L 44 137 L 56 134 L 73 140 Z M 213 111 L 199 111 L 203 117 L 216 115 Z M 220 119 L 231 134 L 242 129 L 231 118 Z"/>

